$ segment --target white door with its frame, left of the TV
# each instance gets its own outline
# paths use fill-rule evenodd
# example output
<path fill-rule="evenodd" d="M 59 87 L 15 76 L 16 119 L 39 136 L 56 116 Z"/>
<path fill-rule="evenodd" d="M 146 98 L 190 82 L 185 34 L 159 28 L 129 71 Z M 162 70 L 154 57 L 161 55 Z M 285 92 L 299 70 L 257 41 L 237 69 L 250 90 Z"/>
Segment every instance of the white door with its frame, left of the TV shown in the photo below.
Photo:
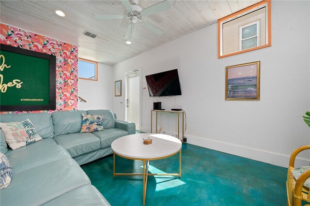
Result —
<path fill-rule="evenodd" d="M 126 79 L 126 121 L 136 124 L 136 130 L 141 127 L 141 78 L 140 71 L 133 70 L 125 74 Z"/>

